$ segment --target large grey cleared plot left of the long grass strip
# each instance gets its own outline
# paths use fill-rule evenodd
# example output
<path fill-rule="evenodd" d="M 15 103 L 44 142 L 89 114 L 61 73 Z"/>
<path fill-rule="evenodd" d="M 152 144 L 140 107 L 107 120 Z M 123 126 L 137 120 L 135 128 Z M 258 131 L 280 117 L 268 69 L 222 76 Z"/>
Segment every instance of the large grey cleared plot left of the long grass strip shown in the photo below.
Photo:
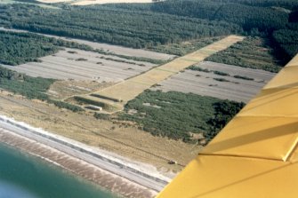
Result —
<path fill-rule="evenodd" d="M 17 67 L 5 67 L 31 76 L 60 80 L 121 82 L 154 66 L 154 64 L 148 62 L 66 48 L 65 51 L 59 51 L 52 56 L 42 58 L 41 62 L 29 62 Z"/>

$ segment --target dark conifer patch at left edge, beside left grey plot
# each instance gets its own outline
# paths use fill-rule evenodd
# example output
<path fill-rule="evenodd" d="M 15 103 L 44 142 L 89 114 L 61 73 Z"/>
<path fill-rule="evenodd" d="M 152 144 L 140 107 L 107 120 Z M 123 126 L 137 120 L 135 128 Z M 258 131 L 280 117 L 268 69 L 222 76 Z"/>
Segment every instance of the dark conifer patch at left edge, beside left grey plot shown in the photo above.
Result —
<path fill-rule="evenodd" d="M 0 63 L 5 65 L 15 66 L 29 61 L 38 61 L 40 57 L 59 51 L 60 47 L 92 50 L 91 47 L 84 44 L 52 37 L 0 30 Z"/>

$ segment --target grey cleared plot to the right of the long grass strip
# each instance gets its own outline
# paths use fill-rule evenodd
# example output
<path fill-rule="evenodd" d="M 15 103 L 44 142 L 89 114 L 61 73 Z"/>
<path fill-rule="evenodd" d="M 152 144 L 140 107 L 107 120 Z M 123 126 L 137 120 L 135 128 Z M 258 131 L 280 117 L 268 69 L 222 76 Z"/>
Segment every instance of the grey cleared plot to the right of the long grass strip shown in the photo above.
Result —
<path fill-rule="evenodd" d="M 152 90 L 192 92 L 219 99 L 248 102 L 262 87 L 276 75 L 259 69 L 231 66 L 214 62 L 201 62 L 197 65 L 210 72 L 185 70 L 170 79 L 159 83 Z M 213 71 L 228 75 L 216 75 Z M 216 73 L 216 72 L 215 72 Z M 254 80 L 235 78 L 234 75 L 247 76 Z M 217 79 L 217 80 L 216 80 Z M 224 80 L 222 80 L 224 79 Z"/>

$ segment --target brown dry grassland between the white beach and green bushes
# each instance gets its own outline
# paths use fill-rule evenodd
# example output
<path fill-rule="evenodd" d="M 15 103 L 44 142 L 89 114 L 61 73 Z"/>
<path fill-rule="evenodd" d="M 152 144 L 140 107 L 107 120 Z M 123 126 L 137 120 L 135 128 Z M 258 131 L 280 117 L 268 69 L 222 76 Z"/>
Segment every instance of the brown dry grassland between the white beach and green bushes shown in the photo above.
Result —
<path fill-rule="evenodd" d="M 93 114 L 76 114 L 52 105 L 3 94 L 0 94 L 0 115 L 13 117 L 17 121 L 132 160 L 152 164 L 158 170 L 163 170 L 165 175 L 180 171 L 200 149 L 197 145 L 154 137 L 132 124 L 97 120 Z M 180 165 L 168 164 L 169 160 Z"/>

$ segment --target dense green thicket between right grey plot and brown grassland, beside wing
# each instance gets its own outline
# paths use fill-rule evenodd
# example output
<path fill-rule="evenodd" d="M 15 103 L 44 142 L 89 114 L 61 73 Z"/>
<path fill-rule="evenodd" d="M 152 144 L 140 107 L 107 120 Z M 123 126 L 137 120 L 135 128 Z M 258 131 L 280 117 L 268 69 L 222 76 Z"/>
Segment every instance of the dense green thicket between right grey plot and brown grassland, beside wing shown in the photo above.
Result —
<path fill-rule="evenodd" d="M 156 136 L 196 142 L 194 134 L 202 133 L 209 141 L 243 106 L 243 103 L 193 93 L 148 90 L 129 101 L 126 113 L 118 117 L 136 122 Z M 135 114 L 128 113 L 132 109 Z"/>

